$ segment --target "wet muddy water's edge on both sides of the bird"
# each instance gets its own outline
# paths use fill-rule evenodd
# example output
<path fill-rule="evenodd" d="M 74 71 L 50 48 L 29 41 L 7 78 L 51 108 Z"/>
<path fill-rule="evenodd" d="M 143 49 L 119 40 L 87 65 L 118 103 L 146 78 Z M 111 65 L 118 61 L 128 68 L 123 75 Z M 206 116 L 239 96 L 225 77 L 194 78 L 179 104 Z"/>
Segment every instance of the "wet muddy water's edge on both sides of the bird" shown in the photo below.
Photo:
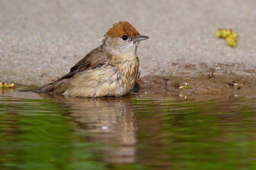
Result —
<path fill-rule="evenodd" d="M 255 73 L 250 75 L 202 73 L 199 76 L 145 76 L 137 79 L 139 87 L 131 95 L 173 96 L 203 101 L 223 97 L 256 97 Z M 38 86 L 16 84 L 14 88 L 1 88 L 2 93 L 24 91 Z"/>

